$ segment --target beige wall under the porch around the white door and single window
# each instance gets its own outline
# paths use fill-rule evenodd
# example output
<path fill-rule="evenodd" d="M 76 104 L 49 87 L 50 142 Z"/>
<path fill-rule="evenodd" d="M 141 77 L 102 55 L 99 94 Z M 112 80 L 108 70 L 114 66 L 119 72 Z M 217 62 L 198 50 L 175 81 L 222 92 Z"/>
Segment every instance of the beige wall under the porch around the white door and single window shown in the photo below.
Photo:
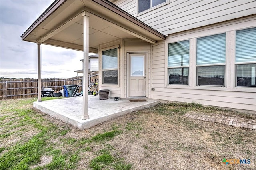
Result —
<path fill-rule="evenodd" d="M 118 50 L 118 84 L 102 83 L 102 51 L 120 47 Z M 100 90 L 109 89 L 110 97 L 128 98 L 128 74 L 127 56 L 129 53 L 145 53 L 146 54 L 146 97 L 150 95 L 150 76 L 151 76 L 151 44 L 139 39 L 118 39 L 112 42 L 101 44 L 99 47 L 99 66 L 100 66 Z"/>

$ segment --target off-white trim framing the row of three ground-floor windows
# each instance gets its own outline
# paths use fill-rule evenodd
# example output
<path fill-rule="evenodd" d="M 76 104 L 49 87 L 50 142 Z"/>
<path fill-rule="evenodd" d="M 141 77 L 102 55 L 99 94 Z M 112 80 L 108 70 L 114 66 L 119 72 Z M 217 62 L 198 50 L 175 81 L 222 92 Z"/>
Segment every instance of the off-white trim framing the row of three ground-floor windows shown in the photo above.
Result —
<path fill-rule="evenodd" d="M 189 85 L 168 85 L 168 50 L 165 50 L 165 60 L 164 60 L 164 88 L 172 88 L 172 89 L 189 89 L 189 90 L 208 90 L 208 91 L 230 91 L 230 92 L 256 92 L 255 87 L 235 87 L 236 85 L 236 64 L 251 64 L 251 62 L 246 63 L 236 63 L 235 62 L 235 38 L 236 38 L 236 31 L 237 30 L 244 30 L 247 28 L 255 27 L 254 22 L 251 22 L 250 26 L 243 27 L 237 26 L 237 29 L 234 29 L 234 26 L 225 26 L 222 30 L 219 28 L 213 28 L 211 32 L 214 34 L 221 34 L 226 33 L 226 69 L 225 69 L 225 76 L 226 76 L 226 86 L 225 87 L 216 87 L 216 86 L 197 86 L 196 81 L 196 38 L 210 36 L 208 30 L 202 30 L 200 32 L 191 33 L 186 36 L 175 36 L 170 38 L 168 37 L 165 41 L 165 49 L 168 49 L 169 43 L 190 40 L 190 66 L 189 66 Z M 182 38 L 181 38 L 182 37 Z"/>

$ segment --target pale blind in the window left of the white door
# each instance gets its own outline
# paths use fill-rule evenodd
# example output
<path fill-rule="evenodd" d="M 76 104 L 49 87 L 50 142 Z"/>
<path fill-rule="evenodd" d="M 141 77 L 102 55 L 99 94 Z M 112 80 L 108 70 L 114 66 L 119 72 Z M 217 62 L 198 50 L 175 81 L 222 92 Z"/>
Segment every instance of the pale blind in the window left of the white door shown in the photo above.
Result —
<path fill-rule="evenodd" d="M 102 51 L 102 68 L 117 69 L 117 48 Z"/>

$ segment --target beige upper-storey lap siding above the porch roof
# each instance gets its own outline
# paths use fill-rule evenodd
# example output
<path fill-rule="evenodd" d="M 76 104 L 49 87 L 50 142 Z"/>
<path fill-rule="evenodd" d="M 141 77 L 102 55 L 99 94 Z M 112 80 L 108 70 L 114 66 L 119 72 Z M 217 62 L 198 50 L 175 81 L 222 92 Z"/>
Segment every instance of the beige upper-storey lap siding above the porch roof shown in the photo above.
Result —
<path fill-rule="evenodd" d="M 167 0 L 138 14 L 137 0 L 114 2 L 164 35 L 255 14 L 255 0 Z"/>

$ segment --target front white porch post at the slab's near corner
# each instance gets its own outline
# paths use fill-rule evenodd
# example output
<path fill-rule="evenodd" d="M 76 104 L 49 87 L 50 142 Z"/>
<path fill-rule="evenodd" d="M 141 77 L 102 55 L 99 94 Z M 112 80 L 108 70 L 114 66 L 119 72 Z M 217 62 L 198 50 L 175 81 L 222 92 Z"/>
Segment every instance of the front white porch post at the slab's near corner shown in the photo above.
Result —
<path fill-rule="evenodd" d="M 83 62 L 83 112 L 81 119 L 89 119 L 88 115 L 88 72 L 89 72 L 89 17 L 90 13 L 84 11 L 82 13 L 84 18 L 84 62 Z"/>

